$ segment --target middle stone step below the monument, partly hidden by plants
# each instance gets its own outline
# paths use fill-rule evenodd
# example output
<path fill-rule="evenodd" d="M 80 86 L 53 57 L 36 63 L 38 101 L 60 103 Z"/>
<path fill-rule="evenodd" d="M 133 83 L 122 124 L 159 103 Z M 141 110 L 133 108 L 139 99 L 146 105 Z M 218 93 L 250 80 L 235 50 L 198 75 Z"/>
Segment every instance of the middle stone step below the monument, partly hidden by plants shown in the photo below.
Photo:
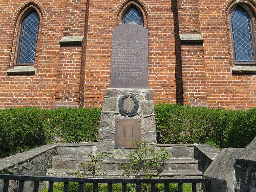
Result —
<path fill-rule="evenodd" d="M 91 162 L 90 157 L 67 157 L 54 156 L 52 168 L 81 169 L 81 163 L 87 165 Z M 102 170 L 120 170 L 120 163 L 129 163 L 127 158 L 106 158 L 102 161 Z M 198 161 L 193 158 L 169 158 L 165 161 L 164 170 L 197 169 Z"/>

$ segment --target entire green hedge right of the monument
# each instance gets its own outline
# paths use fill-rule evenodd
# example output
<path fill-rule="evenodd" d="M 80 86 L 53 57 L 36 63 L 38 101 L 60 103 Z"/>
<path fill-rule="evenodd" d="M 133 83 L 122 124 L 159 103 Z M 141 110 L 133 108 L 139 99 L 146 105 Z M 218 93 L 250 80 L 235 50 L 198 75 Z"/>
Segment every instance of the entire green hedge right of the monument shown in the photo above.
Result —
<path fill-rule="evenodd" d="M 245 147 L 256 136 L 256 108 L 246 111 L 156 104 L 159 143 Z"/>

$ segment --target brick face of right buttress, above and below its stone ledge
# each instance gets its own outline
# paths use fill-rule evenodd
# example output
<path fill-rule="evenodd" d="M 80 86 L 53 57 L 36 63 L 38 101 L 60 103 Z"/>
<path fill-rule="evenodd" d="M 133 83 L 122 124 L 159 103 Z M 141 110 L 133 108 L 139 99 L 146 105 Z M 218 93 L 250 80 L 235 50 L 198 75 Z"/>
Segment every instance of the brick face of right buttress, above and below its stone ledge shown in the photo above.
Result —
<path fill-rule="evenodd" d="M 200 34 L 197 0 L 178 1 L 178 15 L 180 34 Z M 183 104 L 207 106 L 203 45 L 201 43 L 182 45 L 181 60 Z"/>

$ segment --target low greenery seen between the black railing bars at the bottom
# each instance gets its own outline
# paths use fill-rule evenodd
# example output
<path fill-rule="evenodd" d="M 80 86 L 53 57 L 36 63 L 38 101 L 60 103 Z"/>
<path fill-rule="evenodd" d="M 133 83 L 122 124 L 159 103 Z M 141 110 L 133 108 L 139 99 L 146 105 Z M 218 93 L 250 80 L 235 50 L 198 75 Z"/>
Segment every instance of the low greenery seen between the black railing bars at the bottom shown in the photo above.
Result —
<path fill-rule="evenodd" d="M 64 184 L 62 182 L 56 183 L 53 186 L 53 192 L 62 192 L 64 189 Z M 169 190 L 170 192 L 178 192 L 178 185 L 177 184 L 169 184 Z M 69 192 L 76 192 L 78 191 L 78 183 L 69 183 Z M 92 192 L 93 191 L 93 184 L 88 183 L 85 184 L 83 187 L 84 192 Z M 99 184 L 98 185 L 98 191 L 99 192 L 107 192 L 108 191 L 108 185 L 106 184 Z M 120 192 L 122 191 L 122 185 L 121 184 L 113 184 L 113 192 Z M 129 192 L 135 192 L 136 189 L 132 188 L 130 184 L 127 185 L 127 191 Z M 143 191 L 143 190 L 142 190 Z M 156 191 L 157 192 L 164 192 L 164 185 L 163 184 L 157 184 L 156 185 Z M 183 192 L 191 192 L 192 188 L 188 184 L 183 184 Z M 48 192 L 48 188 L 42 190 L 41 192 Z"/>

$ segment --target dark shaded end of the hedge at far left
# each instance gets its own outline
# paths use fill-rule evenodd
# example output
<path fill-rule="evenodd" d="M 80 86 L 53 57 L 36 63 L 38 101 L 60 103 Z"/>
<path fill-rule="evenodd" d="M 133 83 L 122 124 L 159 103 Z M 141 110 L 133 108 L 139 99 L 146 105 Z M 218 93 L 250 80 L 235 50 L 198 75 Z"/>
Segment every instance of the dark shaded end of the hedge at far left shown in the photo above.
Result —
<path fill-rule="evenodd" d="M 45 112 L 26 108 L 0 110 L 0 156 L 14 155 L 46 144 Z"/>

